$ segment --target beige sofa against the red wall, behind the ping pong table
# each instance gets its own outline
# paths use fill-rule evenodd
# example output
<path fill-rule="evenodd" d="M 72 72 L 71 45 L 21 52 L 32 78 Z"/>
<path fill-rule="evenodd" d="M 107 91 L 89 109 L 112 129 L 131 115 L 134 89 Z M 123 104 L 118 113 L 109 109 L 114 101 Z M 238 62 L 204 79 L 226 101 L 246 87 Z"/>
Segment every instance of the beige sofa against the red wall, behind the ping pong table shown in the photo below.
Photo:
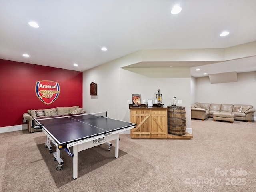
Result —
<path fill-rule="evenodd" d="M 67 115 L 67 114 L 76 114 L 76 113 L 85 113 L 85 110 L 79 108 L 79 106 L 73 107 L 57 107 L 51 109 L 29 109 L 27 113 L 23 114 L 23 118 L 28 123 L 28 132 L 38 132 L 41 129 L 31 128 L 31 120 L 39 116 L 56 116 L 56 115 Z"/>

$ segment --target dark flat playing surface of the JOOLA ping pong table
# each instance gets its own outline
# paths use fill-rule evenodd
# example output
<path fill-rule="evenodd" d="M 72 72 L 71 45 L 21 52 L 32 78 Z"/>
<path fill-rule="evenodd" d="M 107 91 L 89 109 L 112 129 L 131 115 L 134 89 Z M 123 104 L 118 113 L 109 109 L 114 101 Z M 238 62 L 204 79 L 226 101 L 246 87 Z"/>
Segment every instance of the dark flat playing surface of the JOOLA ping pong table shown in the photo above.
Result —
<path fill-rule="evenodd" d="M 74 114 L 35 118 L 58 145 L 84 140 L 136 124 L 93 114 Z"/>

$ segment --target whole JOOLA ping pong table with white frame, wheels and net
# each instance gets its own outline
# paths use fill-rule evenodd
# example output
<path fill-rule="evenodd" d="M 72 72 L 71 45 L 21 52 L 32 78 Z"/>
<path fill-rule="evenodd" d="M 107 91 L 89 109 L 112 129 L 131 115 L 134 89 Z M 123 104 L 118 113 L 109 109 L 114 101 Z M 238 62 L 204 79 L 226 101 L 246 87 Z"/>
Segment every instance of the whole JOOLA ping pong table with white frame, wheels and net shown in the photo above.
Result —
<path fill-rule="evenodd" d="M 62 170 L 63 160 L 60 152 L 64 149 L 73 158 L 73 178 L 78 177 L 78 152 L 108 144 L 116 140 L 115 157 L 118 158 L 119 133 L 134 128 L 136 124 L 107 117 L 107 112 L 94 114 L 70 114 L 51 117 L 38 117 L 32 120 L 32 128 L 42 129 L 46 134 L 45 147 L 52 153 L 52 144 L 56 146 L 53 153 L 58 161 L 56 170 Z M 73 147 L 73 153 L 70 152 Z"/>

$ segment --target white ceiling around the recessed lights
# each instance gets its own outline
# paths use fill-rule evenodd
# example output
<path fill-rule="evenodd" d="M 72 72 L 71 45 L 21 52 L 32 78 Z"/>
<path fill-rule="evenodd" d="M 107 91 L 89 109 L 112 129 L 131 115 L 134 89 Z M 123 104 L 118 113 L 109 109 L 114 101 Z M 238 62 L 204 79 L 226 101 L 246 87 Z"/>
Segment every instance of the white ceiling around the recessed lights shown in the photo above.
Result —
<path fill-rule="evenodd" d="M 170 14 L 177 3 L 182 12 Z M 256 0 L 0 0 L 0 58 L 84 71 L 141 49 L 228 48 L 256 41 L 255 7 Z M 224 30 L 230 34 L 220 37 Z M 178 65 L 199 77 L 255 71 L 256 57 L 198 62 L 199 72 L 195 62 Z"/>

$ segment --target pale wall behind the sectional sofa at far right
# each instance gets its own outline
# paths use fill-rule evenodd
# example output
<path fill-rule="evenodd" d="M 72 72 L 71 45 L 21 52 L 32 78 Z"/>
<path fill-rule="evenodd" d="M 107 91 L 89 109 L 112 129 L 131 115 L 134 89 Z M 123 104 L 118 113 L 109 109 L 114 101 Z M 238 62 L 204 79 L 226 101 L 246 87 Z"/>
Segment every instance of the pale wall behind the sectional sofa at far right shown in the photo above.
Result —
<path fill-rule="evenodd" d="M 255 72 L 237 74 L 237 82 L 211 84 L 209 77 L 196 78 L 196 101 L 201 103 L 249 104 L 256 109 Z"/>

